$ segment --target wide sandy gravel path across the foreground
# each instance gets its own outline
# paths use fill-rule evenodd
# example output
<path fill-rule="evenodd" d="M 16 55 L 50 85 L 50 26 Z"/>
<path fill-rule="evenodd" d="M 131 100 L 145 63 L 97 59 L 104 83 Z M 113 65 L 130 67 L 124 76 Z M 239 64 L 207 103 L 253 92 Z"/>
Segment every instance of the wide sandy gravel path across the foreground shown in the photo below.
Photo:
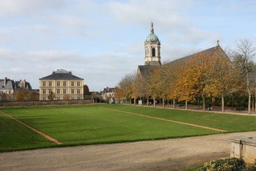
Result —
<path fill-rule="evenodd" d="M 229 156 L 229 137 L 256 132 L 0 153 L 0 170 L 182 170 Z"/>

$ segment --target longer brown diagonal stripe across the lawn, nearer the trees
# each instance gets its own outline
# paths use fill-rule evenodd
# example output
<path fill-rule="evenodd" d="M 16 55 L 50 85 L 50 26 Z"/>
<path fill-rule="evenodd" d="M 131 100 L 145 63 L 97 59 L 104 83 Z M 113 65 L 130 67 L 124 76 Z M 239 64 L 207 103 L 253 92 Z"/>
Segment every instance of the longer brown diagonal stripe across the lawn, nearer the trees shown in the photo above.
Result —
<path fill-rule="evenodd" d="M 138 115 L 138 116 L 147 117 L 147 118 L 152 118 L 152 119 L 158 119 L 158 120 L 163 120 L 163 121 L 168 121 L 168 122 L 180 123 L 180 124 L 184 124 L 184 125 L 190 125 L 190 126 L 195 126 L 195 127 L 202 127 L 203 129 L 208 129 L 208 130 L 214 130 L 214 131 L 219 131 L 219 132 L 227 132 L 226 130 L 216 129 L 216 128 L 214 128 L 214 127 L 196 125 L 196 124 L 192 124 L 192 123 L 174 121 L 174 120 L 163 119 L 163 118 L 158 118 L 158 117 L 151 117 L 151 116 L 141 115 L 141 114 L 133 113 L 133 112 L 129 112 L 129 111 L 122 111 L 122 110 L 117 110 L 117 109 L 110 109 L 110 108 L 107 108 L 107 107 L 99 107 L 99 108 L 104 108 L 104 109 L 113 110 L 113 111 L 120 111 L 120 112 L 124 112 L 124 113 L 128 113 L 128 114 L 132 114 L 132 115 Z"/>

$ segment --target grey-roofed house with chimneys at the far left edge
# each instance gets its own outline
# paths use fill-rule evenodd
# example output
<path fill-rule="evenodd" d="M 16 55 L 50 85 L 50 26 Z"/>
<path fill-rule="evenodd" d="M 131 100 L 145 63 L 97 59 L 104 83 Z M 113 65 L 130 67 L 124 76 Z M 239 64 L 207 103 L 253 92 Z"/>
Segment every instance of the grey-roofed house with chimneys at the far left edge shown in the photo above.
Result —
<path fill-rule="evenodd" d="M 26 80 L 14 81 L 7 77 L 0 79 L 0 100 L 3 99 L 4 95 L 7 95 L 9 99 L 13 99 L 15 92 L 20 88 L 32 91 L 30 83 Z"/>

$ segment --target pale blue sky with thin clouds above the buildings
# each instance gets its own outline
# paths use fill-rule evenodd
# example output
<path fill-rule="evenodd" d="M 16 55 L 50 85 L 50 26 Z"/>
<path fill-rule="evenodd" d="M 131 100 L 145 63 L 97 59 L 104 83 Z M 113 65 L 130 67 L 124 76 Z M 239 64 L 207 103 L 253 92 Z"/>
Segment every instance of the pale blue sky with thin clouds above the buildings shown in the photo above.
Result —
<path fill-rule="evenodd" d="M 39 78 L 65 69 L 90 91 L 115 87 L 144 65 L 144 41 L 161 41 L 161 61 L 217 45 L 235 49 L 248 38 L 256 45 L 256 1 L 1 0 L 0 79 Z"/>

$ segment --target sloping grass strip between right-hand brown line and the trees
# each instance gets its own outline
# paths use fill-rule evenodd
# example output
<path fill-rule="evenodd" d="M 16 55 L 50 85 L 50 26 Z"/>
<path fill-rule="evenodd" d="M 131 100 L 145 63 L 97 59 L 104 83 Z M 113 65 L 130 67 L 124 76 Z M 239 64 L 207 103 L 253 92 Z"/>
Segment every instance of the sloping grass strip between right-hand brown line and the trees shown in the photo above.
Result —
<path fill-rule="evenodd" d="M 147 108 L 129 105 L 109 105 L 111 109 L 135 112 L 147 116 L 159 117 L 169 120 L 182 121 L 231 132 L 244 132 L 256 130 L 256 117 L 229 115 L 223 113 L 211 113 L 200 111 L 185 111 L 162 108 Z"/>

